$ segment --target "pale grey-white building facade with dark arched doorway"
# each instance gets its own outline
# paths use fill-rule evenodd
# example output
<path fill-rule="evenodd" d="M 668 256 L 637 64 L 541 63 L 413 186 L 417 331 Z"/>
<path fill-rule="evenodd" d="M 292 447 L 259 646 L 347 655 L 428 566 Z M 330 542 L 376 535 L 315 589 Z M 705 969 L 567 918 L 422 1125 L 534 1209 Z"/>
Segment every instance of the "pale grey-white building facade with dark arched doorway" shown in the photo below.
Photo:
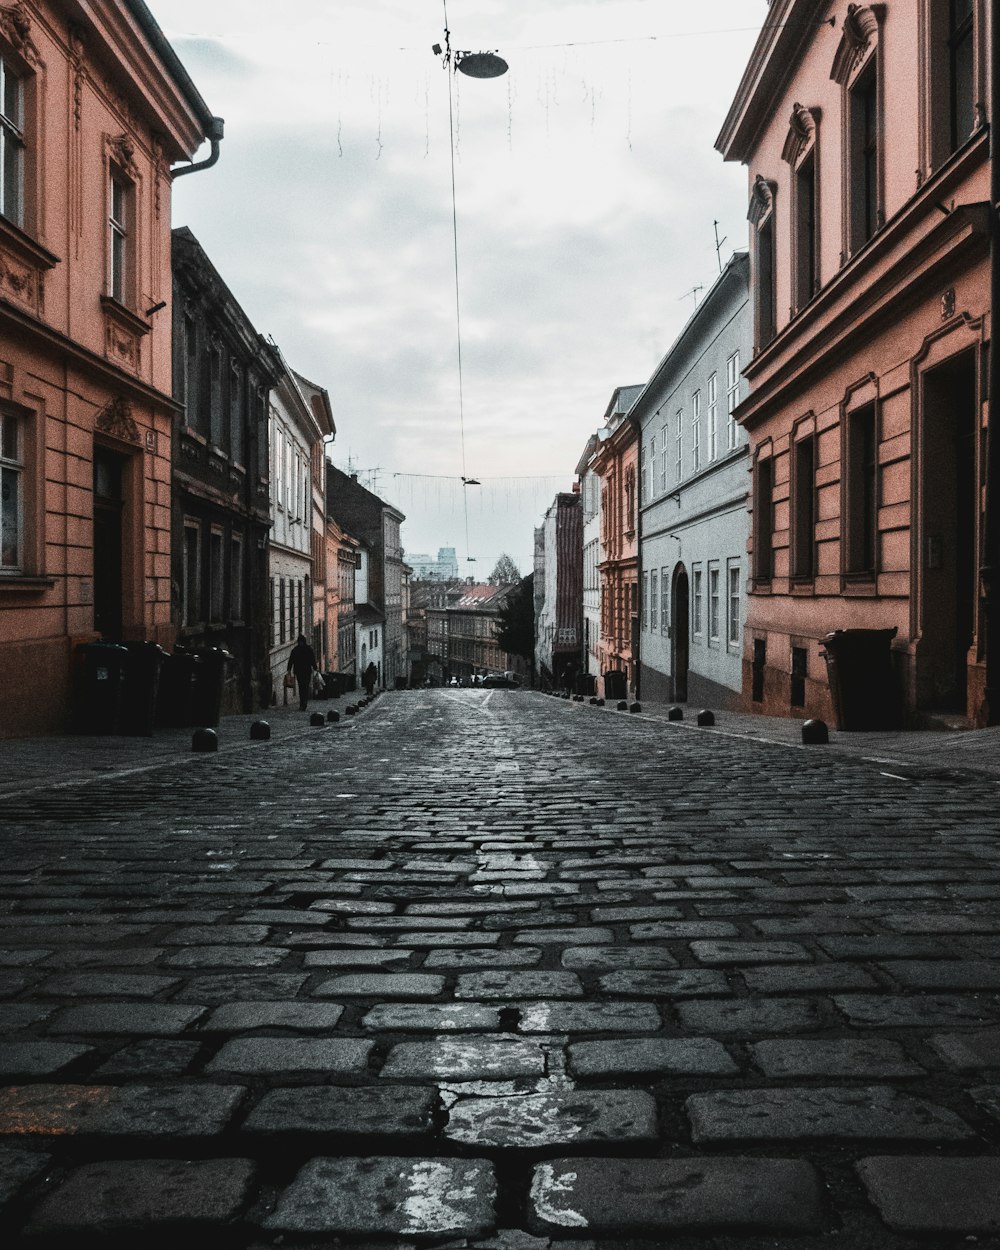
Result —
<path fill-rule="evenodd" d="M 749 259 L 738 252 L 632 408 L 644 700 L 739 704 L 750 482 L 732 412 L 752 341 Z"/>

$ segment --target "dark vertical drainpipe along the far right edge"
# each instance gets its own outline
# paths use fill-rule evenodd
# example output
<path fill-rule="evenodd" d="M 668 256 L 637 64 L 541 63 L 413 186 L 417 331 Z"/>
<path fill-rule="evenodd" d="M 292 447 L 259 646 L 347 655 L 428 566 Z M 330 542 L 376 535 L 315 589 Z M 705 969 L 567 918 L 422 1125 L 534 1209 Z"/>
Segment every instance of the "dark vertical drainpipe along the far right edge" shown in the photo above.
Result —
<path fill-rule="evenodd" d="M 986 501 L 982 602 L 986 635 L 986 724 L 1000 724 L 1000 2 L 990 4 L 990 361 L 986 409 Z"/>

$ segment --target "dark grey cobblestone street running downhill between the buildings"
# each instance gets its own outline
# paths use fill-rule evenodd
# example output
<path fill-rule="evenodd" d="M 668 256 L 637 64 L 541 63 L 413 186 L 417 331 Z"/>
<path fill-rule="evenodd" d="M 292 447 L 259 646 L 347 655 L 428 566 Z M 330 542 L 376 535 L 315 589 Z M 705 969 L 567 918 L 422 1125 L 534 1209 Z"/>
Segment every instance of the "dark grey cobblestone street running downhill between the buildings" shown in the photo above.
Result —
<path fill-rule="evenodd" d="M 1000 1245 L 995 778 L 429 690 L 0 811 L 8 1245 Z"/>

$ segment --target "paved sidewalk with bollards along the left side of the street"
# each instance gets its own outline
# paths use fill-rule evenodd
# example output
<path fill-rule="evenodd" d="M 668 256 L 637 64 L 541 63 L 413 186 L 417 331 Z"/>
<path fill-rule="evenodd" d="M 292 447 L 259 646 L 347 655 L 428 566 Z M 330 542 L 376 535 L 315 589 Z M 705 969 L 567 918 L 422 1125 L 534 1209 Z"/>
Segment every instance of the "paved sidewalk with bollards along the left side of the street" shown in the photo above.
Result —
<path fill-rule="evenodd" d="M 328 711 L 339 711 L 340 721 L 330 728 L 349 729 L 354 718 L 346 716 L 344 709 L 361 698 L 364 690 L 340 699 L 310 700 L 306 711 L 299 711 L 299 701 L 295 699 L 288 706 L 278 705 L 266 711 L 224 716 L 216 729 L 219 754 L 266 746 L 266 742 L 250 739 L 250 726 L 255 720 L 268 721 L 271 740 L 316 732 L 309 724 L 309 718 L 315 711 L 324 716 Z M 198 754 L 191 750 L 192 732 L 194 728 L 158 729 L 152 738 L 61 734 L 50 738 L 0 739 L 0 796 L 70 781 L 94 781 L 100 775 L 135 772 L 196 759 Z"/>

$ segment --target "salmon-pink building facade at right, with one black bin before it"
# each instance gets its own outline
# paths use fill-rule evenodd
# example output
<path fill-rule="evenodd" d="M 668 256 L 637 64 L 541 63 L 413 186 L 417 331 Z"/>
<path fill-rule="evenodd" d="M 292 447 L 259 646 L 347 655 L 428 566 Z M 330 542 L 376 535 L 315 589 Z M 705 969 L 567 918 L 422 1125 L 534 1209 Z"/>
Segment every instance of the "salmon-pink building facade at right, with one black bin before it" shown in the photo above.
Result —
<path fill-rule="evenodd" d="M 746 165 L 744 702 L 834 708 L 821 639 L 895 630 L 912 724 L 982 714 L 985 0 L 774 0 L 716 146 Z"/>

